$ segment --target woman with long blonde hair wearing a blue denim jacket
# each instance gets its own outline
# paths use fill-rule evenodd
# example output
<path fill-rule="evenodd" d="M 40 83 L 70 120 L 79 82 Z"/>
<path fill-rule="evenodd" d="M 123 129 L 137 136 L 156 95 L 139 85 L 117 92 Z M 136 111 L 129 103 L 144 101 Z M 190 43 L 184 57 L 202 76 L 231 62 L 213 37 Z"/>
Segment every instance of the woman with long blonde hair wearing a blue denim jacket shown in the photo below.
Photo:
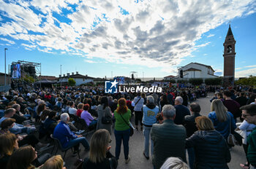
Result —
<path fill-rule="evenodd" d="M 211 112 L 208 114 L 208 117 L 214 123 L 215 130 L 219 131 L 226 140 L 230 134 L 230 123 L 231 131 L 236 129 L 236 122 L 233 114 L 227 111 L 227 108 L 219 99 L 215 99 L 211 102 Z"/>

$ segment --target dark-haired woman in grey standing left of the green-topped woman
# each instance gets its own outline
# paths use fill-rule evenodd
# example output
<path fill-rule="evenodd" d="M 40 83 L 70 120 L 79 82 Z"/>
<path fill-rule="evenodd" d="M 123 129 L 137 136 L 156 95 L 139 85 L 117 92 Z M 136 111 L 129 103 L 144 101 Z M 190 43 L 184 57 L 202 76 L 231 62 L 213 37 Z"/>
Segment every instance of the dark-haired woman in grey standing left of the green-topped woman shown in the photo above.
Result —
<path fill-rule="evenodd" d="M 97 109 L 97 113 L 98 113 L 97 130 L 106 129 L 106 130 L 108 130 L 108 132 L 111 135 L 112 134 L 112 130 L 111 130 L 112 120 L 109 124 L 102 124 L 102 117 L 111 117 L 112 118 L 111 109 L 108 106 L 107 96 L 102 97 L 101 104 L 98 106 L 98 109 Z"/>

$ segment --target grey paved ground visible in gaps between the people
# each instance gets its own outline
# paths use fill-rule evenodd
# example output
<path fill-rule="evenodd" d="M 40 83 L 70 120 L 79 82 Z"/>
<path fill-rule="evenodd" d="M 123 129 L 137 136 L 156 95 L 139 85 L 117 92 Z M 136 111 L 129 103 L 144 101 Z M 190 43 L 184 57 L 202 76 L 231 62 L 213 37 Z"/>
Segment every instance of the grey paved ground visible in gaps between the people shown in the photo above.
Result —
<path fill-rule="evenodd" d="M 199 98 L 197 99 L 197 103 L 200 104 L 201 106 L 201 114 L 204 116 L 207 116 L 208 113 L 210 112 L 210 105 L 211 103 L 209 102 L 209 100 L 211 99 L 212 95 L 209 95 L 207 98 Z M 132 119 L 132 121 L 134 121 L 134 119 Z M 89 140 L 91 137 L 91 135 L 89 135 L 87 137 L 87 139 Z M 112 154 L 115 154 L 115 137 L 114 135 L 111 135 L 112 138 L 112 149 L 110 149 L 110 152 Z M 135 134 L 132 135 L 132 137 L 129 140 L 129 156 L 131 157 L 131 161 L 129 162 L 129 164 L 125 164 L 124 163 L 124 153 L 123 153 L 123 149 L 121 149 L 121 155 L 119 157 L 118 160 L 118 168 L 119 169 L 123 169 L 123 168 L 142 168 L 142 169 L 151 169 L 153 168 L 152 164 L 151 164 L 151 157 L 150 160 L 146 160 L 145 157 L 143 157 L 143 133 L 142 131 L 135 131 Z M 83 148 L 82 148 L 83 149 Z M 62 157 L 63 157 L 64 153 L 62 153 Z M 88 156 L 88 153 L 86 152 L 81 152 L 80 153 L 80 157 L 82 159 L 84 159 L 85 157 Z M 238 169 L 240 168 L 239 164 L 240 163 L 244 163 L 246 162 L 246 158 L 245 158 L 245 154 L 244 154 L 244 150 L 241 146 L 235 146 L 232 151 L 231 151 L 231 157 L 232 160 L 231 162 L 228 164 L 230 169 Z M 68 169 L 73 168 L 73 165 L 75 163 L 75 160 L 77 159 L 77 157 L 72 157 L 71 153 L 68 153 L 65 157 L 65 162 L 66 162 L 66 166 Z"/>

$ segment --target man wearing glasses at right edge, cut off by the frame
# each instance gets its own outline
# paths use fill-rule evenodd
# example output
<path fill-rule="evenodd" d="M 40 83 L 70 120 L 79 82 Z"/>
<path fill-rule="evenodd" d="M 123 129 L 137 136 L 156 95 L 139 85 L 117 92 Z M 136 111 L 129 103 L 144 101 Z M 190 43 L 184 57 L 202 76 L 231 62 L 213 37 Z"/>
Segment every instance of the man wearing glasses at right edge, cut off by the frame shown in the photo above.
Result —
<path fill-rule="evenodd" d="M 242 111 L 242 117 L 246 120 L 246 122 L 256 125 L 256 104 L 241 106 L 240 109 Z M 247 143 L 249 144 L 247 150 L 247 159 L 251 164 L 250 169 L 256 169 L 256 127 L 247 137 Z"/>

